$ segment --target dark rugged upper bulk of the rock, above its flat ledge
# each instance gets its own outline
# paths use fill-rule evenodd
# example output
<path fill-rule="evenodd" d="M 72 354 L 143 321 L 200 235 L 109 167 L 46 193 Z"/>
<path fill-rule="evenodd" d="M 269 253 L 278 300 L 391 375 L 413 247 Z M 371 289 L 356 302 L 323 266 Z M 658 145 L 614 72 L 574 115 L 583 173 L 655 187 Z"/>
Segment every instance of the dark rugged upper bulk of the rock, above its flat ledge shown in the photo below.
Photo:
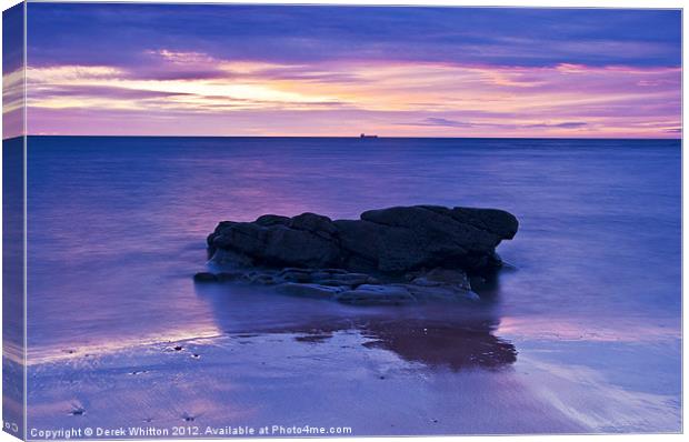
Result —
<path fill-rule="evenodd" d="M 495 253 L 515 237 L 517 219 L 496 209 L 437 205 L 370 210 L 360 220 L 303 213 L 223 221 L 208 237 L 212 255 L 246 265 L 339 268 L 400 274 L 419 269 L 480 271 L 500 264 Z"/>

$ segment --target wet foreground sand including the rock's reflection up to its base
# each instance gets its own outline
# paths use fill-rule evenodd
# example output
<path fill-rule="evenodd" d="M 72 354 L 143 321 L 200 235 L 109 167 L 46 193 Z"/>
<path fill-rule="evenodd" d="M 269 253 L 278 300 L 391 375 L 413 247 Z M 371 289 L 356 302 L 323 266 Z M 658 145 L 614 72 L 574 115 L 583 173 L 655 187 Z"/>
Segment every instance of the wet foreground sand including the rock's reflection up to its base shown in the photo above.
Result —
<path fill-rule="evenodd" d="M 662 385 L 635 380 L 638 373 L 626 372 L 620 360 L 639 368 L 646 356 L 657 360 L 653 352 L 660 360 L 679 354 L 670 335 L 648 343 L 535 335 L 528 325 L 538 329 L 538 321 L 505 321 L 501 332 L 490 303 L 341 309 L 266 289 L 199 290 L 217 302 L 222 330 L 214 336 L 66 349 L 30 366 L 29 430 L 123 425 L 124 436 L 136 436 L 130 426 L 182 425 L 216 436 L 228 425 L 268 425 L 270 435 L 297 435 L 272 433 L 272 425 L 311 425 L 382 435 L 672 432 L 680 425 L 672 385 L 662 394 Z M 239 305 L 252 312 L 267 297 L 276 314 L 266 309 L 262 321 L 240 319 Z M 284 303 L 294 307 L 291 315 L 279 309 Z M 603 364 L 567 360 L 586 355 L 587 345 L 591 361 Z M 663 378 L 662 364 L 648 369 Z"/>

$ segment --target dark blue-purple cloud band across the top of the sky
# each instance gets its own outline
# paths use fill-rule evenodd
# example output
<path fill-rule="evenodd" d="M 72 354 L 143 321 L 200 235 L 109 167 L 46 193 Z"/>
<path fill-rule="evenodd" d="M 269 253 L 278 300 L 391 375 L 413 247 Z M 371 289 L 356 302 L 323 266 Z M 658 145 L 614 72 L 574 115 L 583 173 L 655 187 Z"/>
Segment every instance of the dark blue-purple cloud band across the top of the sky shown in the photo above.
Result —
<path fill-rule="evenodd" d="M 290 64 L 659 67 L 679 66 L 681 56 L 679 10 L 54 3 L 29 10 L 38 64 L 114 59 L 134 67 L 142 47 Z"/>

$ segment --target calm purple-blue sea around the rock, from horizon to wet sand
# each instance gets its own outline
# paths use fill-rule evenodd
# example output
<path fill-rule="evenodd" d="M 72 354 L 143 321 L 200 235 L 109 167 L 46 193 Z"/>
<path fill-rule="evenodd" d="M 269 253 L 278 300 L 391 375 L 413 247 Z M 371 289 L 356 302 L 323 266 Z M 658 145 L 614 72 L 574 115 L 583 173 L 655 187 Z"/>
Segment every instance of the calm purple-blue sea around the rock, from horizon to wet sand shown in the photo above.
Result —
<path fill-rule="evenodd" d="M 28 152 L 30 362 L 370 314 L 194 288 L 221 220 L 490 207 L 520 230 L 481 314 L 517 360 L 577 341 L 558 364 L 605 369 L 610 342 L 637 345 L 612 358 L 623 378 L 679 408 L 679 141 L 31 137 Z M 649 354 L 659 380 L 639 386 Z"/>

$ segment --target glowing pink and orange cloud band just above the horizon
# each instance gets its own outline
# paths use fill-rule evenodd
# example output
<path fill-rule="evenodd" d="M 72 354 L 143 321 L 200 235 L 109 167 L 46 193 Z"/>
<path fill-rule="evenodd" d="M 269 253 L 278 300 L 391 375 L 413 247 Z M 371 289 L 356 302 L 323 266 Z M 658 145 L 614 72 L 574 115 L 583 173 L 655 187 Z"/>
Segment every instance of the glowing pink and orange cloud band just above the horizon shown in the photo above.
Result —
<path fill-rule="evenodd" d="M 680 68 L 279 64 L 167 49 L 147 54 L 163 71 L 214 74 L 142 79 L 108 66 L 29 68 L 31 127 L 50 132 L 42 117 L 54 121 L 79 109 L 113 120 L 146 112 L 153 125 L 174 115 L 190 134 L 201 115 L 218 124 L 204 124 L 209 134 L 228 135 L 322 134 L 322 127 L 341 135 L 365 127 L 403 137 L 676 137 L 680 128 Z"/>

